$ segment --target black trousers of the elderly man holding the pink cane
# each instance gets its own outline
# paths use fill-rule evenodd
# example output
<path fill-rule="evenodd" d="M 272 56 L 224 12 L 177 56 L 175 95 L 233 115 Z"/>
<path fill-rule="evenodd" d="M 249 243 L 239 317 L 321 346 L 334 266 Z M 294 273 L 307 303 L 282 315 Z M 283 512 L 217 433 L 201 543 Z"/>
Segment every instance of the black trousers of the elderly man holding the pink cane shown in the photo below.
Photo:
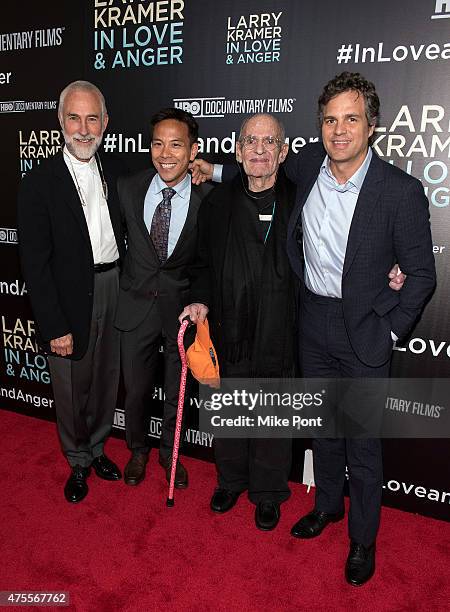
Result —
<path fill-rule="evenodd" d="M 245 377 L 250 364 L 229 364 L 220 359 L 221 375 Z M 288 477 L 292 461 L 292 440 L 268 438 L 215 438 L 214 456 L 219 487 L 230 491 L 248 490 L 249 500 L 281 503 L 291 494 Z"/>

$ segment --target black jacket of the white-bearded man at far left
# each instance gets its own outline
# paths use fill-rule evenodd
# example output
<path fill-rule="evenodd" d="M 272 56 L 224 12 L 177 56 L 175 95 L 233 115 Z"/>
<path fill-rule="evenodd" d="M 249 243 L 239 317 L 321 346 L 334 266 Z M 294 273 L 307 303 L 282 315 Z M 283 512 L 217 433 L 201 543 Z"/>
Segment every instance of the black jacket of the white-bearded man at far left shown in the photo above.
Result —
<path fill-rule="evenodd" d="M 120 257 L 125 253 L 116 181 L 124 167 L 104 156 L 108 208 Z M 37 323 L 38 340 L 72 333 L 72 359 L 86 352 L 92 316 L 94 260 L 77 189 L 62 152 L 21 181 L 18 199 L 22 271 Z"/>

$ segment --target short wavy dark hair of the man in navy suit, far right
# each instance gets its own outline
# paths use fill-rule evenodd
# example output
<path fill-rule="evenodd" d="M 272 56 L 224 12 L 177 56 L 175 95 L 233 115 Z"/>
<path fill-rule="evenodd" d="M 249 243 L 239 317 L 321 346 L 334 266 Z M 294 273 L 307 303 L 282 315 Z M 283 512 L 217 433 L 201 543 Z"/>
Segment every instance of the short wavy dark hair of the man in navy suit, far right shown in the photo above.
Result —
<path fill-rule="evenodd" d="M 375 85 L 359 72 L 341 72 L 328 81 L 318 100 L 319 125 L 323 123 L 324 107 L 332 98 L 345 91 L 356 91 L 363 96 L 367 122 L 369 125 L 376 125 L 380 117 L 380 99 Z"/>

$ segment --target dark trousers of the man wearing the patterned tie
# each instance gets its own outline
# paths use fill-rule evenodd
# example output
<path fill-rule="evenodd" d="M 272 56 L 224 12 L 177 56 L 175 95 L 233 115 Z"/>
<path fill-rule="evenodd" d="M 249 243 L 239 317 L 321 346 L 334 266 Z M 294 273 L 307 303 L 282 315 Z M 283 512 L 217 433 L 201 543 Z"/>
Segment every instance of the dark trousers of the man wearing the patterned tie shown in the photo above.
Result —
<path fill-rule="evenodd" d="M 148 453 L 150 406 L 155 388 L 161 339 L 164 345 L 164 409 L 160 455 L 168 459 L 172 453 L 181 361 L 175 333 L 163 329 L 156 304 L 135 329 L 121 332 L 122 372 L 125 384 L 125 432 L 128 448 Z"/>

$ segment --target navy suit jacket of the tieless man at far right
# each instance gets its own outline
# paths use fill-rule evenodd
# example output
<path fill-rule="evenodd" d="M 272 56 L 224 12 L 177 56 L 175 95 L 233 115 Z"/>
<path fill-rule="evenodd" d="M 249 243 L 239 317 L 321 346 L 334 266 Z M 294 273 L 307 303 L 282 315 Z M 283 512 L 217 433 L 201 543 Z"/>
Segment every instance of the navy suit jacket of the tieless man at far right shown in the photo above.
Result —
<path fill-rule="evenodd" d="M 321 143 L 307 145 L 286 166 L 297 184 L 288 230 L 288 255 L 303 282 L 301 212 L 325 157 Z M 388 286 L 398 263 L 407 274 L 401 291 Z M 391 330 L 409 333 L 436 283 L 428 200 L 421 183 L 373 154 L 348 236 L 342 277 L 344 318 L 358 358 L 376 367 L 391 355 Z"/>

